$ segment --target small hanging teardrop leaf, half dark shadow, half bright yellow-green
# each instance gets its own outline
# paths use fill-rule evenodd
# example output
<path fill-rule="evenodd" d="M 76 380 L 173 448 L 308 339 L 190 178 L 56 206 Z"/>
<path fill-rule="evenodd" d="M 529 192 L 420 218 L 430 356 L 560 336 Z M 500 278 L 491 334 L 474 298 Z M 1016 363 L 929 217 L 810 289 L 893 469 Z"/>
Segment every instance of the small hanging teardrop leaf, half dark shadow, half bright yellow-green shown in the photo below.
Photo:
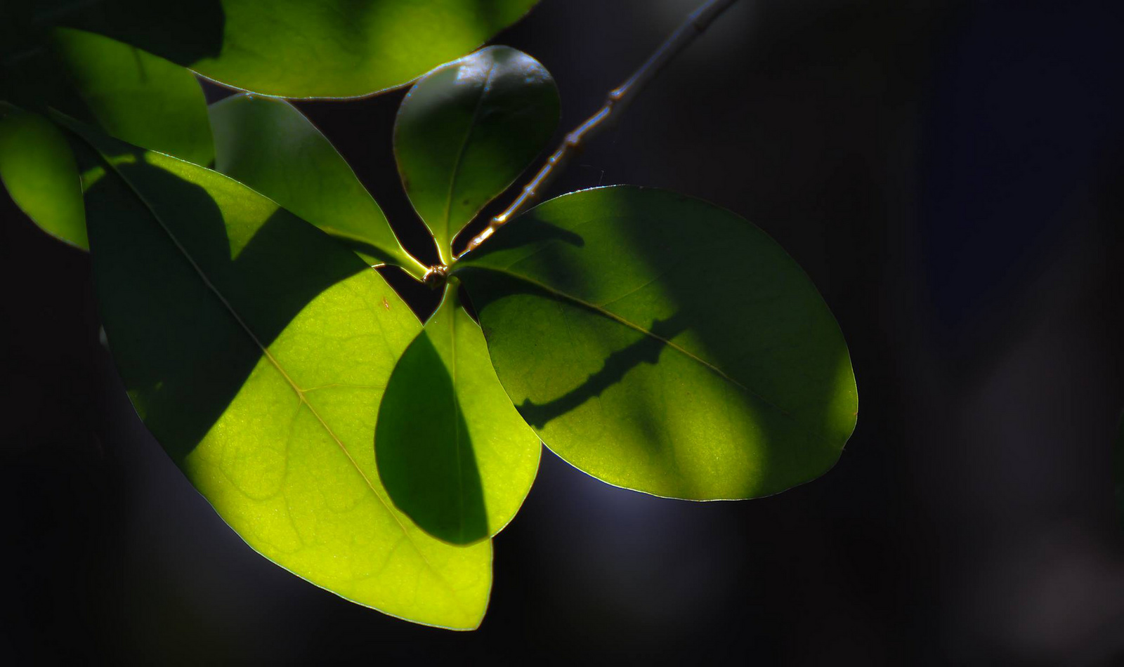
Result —
<path fill-rule="evenodd" d="M 398 360 L 374 444 L 395 504 L 450 542 L 496 534 L 531 491 L 538 437 L 504 393 L 455 286 Z"/>

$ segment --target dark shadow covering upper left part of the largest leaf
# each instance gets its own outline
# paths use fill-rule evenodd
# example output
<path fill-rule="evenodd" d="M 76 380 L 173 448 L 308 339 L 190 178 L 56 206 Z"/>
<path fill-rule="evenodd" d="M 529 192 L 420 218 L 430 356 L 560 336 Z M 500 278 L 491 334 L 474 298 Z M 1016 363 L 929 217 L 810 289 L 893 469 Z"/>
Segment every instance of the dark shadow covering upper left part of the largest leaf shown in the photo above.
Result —
<path fill-rule="evenodd" d="M 105 164 L 89 147 L 79 155 L 84 166 Z M 262 359 L 261 346 L 324 290 L 370 268 L 280 208 L 232 238 L 207 190 L 145 155 L 108 155 L 116 166 L 85 193 L 94 290 L 134 405 L 182 465 Z"/>

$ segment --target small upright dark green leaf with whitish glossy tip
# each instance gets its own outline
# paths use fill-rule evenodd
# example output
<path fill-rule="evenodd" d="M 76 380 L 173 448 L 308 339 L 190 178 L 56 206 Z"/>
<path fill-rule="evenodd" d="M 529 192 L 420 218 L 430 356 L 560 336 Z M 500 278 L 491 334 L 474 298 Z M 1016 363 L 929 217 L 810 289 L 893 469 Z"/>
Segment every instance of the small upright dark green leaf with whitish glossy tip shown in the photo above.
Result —
<path fill-rule="evenodd" d="M 506 46 L 443 65 L 410 89 L 395 121 L 395 156 L 446 264 L 456 232 L 527 168 L 558 120 L 550 73 Z"/>

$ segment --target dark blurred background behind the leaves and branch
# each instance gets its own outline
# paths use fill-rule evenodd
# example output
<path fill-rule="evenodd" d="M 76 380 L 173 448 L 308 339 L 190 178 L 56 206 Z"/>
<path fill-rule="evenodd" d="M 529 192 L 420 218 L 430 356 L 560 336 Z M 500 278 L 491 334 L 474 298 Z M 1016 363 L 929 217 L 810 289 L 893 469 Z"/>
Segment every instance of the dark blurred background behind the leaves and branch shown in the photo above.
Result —
<path fill-rule="evenodd" d="M 553 72 L 561 136 L 694 4 L 543 0 L 495 42 Z M 665 186 L 765 229 L 846 335 L 858 429 L 823 478 L 733 503 L 613 488 L 544 454 L 475 632 L 252 552 L 133 413 L 88 257 L 4 197 L 0 655 L 1124 664 L 1120 7 L 742 0 L 676 61 L 556 191 Z M 390 152 L 401 95 L 301 108 L 417 243 Z"/>

